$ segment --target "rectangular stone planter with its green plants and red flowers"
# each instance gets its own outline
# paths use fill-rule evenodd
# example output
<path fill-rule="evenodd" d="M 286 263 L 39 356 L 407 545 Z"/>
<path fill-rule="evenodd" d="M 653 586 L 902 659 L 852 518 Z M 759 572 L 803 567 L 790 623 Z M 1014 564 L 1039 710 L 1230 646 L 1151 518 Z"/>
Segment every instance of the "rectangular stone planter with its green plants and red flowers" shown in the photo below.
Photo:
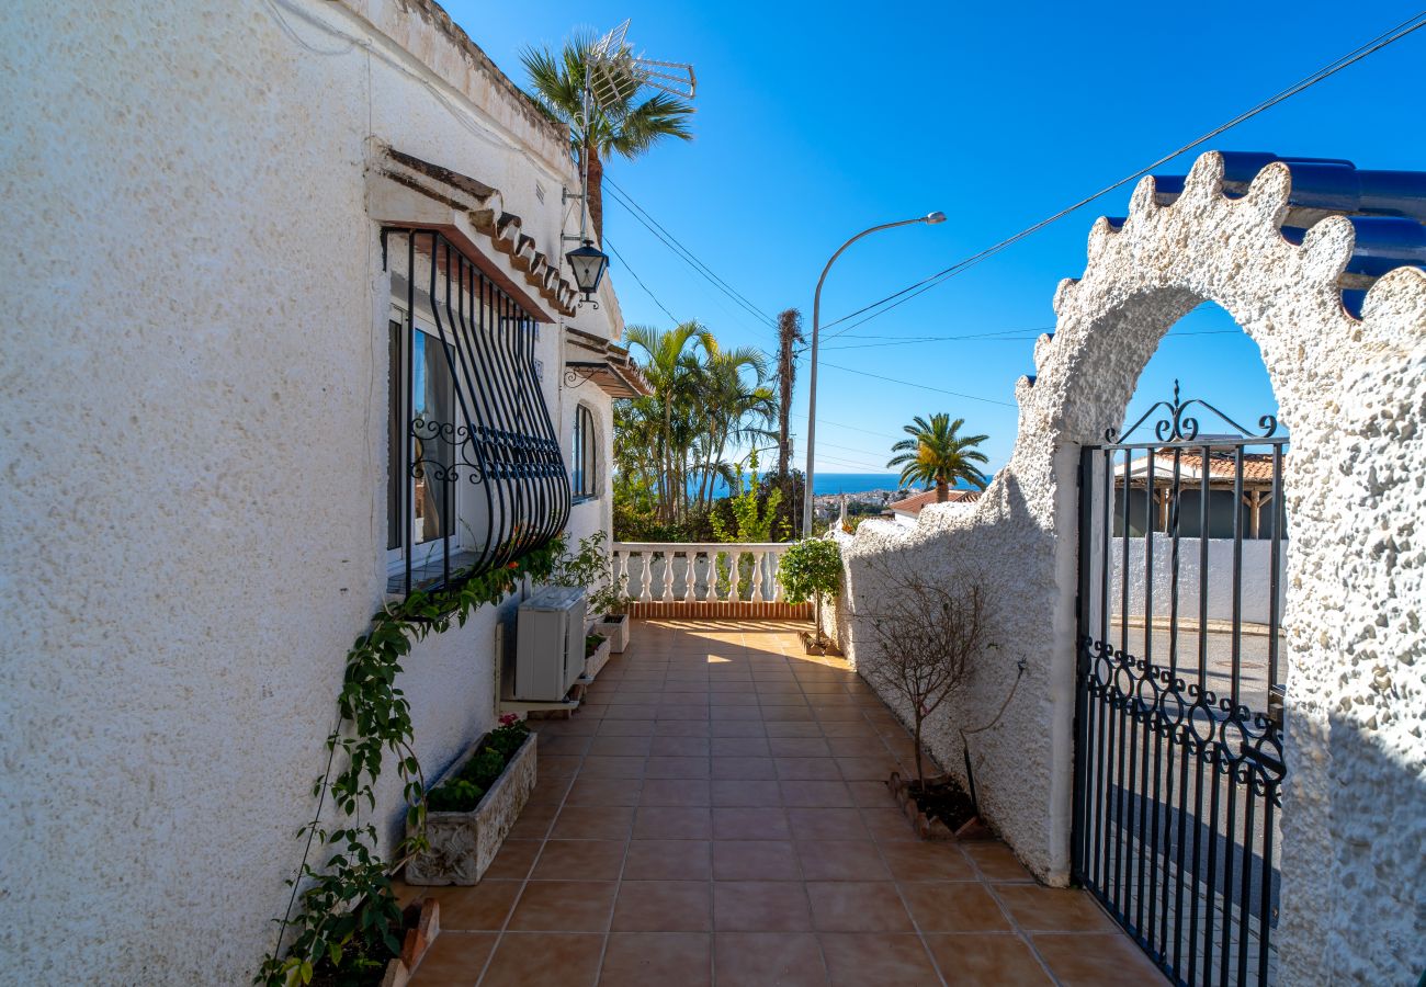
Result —
<path fill-rule="evenodd" d="M 428 849 L 406 864 L 408 884 L 475 884 L 535 787 L 535 733 L 513 713 L 426 790 Z"/>

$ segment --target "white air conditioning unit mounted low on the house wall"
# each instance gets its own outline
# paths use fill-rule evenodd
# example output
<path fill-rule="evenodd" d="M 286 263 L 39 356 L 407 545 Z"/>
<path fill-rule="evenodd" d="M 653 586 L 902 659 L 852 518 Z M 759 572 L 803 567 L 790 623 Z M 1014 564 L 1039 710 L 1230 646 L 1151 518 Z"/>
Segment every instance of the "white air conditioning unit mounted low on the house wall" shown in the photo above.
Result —
<path fill-rule="evenodd" d="M 585 590 L 546 586 L 520 603 L 515 699 L 558 703 L 585 670 Z"/>

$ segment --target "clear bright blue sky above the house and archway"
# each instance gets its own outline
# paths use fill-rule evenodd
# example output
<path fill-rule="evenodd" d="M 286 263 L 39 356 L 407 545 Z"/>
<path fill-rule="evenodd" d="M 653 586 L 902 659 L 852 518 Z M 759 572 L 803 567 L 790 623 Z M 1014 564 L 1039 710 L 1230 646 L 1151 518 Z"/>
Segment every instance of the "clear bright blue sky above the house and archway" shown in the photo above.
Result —
<path fill-rule="evenodd" d="M 665 144 L 609 177 L 757 308 L 803 310 L 827 257 L 868 225 L 945 211 L 858 242 L 823 290 L 823 322 L 988 247 L 1186 144 L 1406 20 L 1406 4 L 947 4 L 446 0 L 516 81 L 519 51 L 575 27 L 630 17 L 649 57 L 690 61 L 696 140 Z M 870 11 L 870 13 L 868 13 Z M 1419 78 L 1426 30 L 1346 68 L 1205 148 L 1426 167 Z M 1181 174 L 1192 153 L 1161 173 Z M 1131 188 L 850 329 L 823 337 L 817 468 L 881 472 L 913 415 L 947 411 L 990 435 L 998 468 L 1015 436 L 1014 385 L 1032 372 L 1062 277 L 1084 270 L 1097 215 Z M 669 325 L 630 268 L 680 319 L 729 345 L 774 332 L 659 242 L 606 194 L 612 277 L 627 322 Z M 846 328 L 846 324 L 837 328 Z M 1262 359 L 1219 310 L 1189 314 L 1141 378 L 1131 415 L 1169 397 L 1214 401 L 1239 421 L 1275 409 Z M 903 344 L 910 337 L 1000 338 Z M 898 345 L 868 345 L 898 342 Z M 857 347 L 857 348 L 838 348 Z M 850 368 L 843 369 L 843 368 Z M 851 372 L 861 371 L 861 372 Z M 877 377 L 954 391 L 943 394 Z M 806 431 L 806 361 L 794 432 Z M 800 444 L 799 444 L 800 449 Z"/>

